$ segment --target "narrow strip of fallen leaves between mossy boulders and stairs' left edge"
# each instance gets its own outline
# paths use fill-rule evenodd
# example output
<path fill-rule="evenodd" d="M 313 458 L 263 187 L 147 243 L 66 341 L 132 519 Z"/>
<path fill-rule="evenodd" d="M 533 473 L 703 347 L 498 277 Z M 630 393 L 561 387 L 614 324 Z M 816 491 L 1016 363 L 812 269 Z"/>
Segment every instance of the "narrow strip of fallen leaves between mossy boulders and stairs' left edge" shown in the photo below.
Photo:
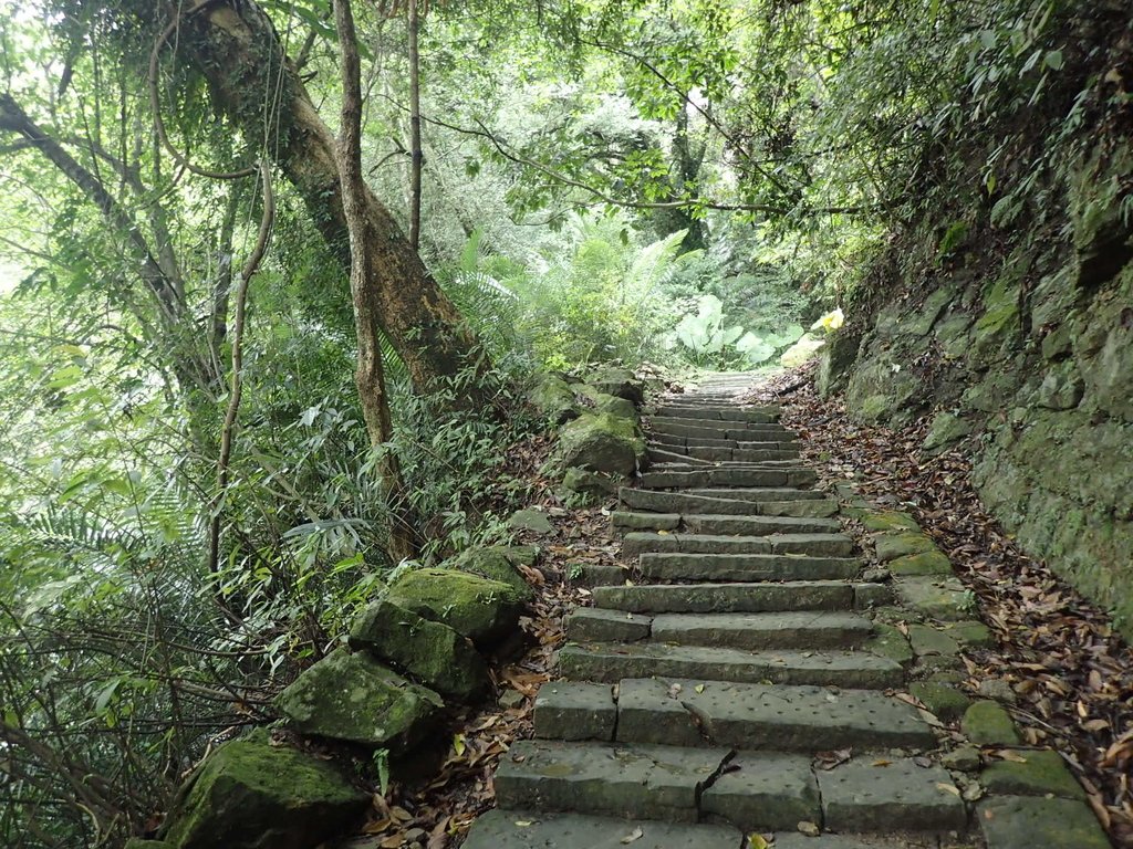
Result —
<path fill-rule="evenodd" d="M 565 616 L 589 597 L 588 590 L 573 585 L 571 565 L 612 566 L 620 550 L 611 537 L 608 509 L 565 508 L 553 492 L 556 481 L 535 471 L 547 453 L 548 440 L 535 439 L 513 446 L 506 463 L 512 474 L 527 477 L 530 504 L 546 511 L 555 532 L 519 540 L 539 546 L 542 556 L 538 568 L 527 572 L 536 591 L 530 615 L 520 621 L 527 646 L 518 659 L 493 669 L 499 701 L 458 715 L 438 731 L 438 747 L 446 747 L 440 769 L 427 778 L 392 783 L 384 797 L 375 794 L 361 833 L 337 849 L 449 849 L 460 844 L 479 814 L 495 807 L 496 763 L 514 740 L 533 736 L 535 696 L 555 675 Z"/>

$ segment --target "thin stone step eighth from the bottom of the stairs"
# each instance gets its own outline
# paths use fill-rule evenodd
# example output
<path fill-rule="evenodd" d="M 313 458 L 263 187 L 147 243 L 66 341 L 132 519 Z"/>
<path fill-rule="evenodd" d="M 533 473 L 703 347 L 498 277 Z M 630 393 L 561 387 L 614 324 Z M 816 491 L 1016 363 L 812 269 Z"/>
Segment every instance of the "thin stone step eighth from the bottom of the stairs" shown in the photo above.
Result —
<path fill-rule="evenodd" d="M 852 557 L 857 547 L 844 533 L 773 533 L 768 537 L 719 537 L 633 531 L 622 538 L 622 555 L 810 555 Z"/>

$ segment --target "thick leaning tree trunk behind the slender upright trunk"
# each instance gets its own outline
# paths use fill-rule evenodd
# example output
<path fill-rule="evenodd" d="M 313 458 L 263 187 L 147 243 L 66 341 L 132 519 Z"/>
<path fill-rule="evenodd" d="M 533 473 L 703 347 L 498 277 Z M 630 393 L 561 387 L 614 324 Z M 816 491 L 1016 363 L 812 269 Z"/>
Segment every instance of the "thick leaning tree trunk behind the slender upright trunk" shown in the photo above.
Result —
<path fill-rule="evenodd" d="M 264 11 L 246 0 L 203 0 L 182 14 L 176 43 L 177 61 L 190 62 L 205 76 L 219 113 L 249 142 L 263 143 L 349 268 L 335 140 Z M 414 386 L 427 391 L 466 368 L 486 368 L 478 340 L 389 209 L 369 188 L 364 187 L 361 200 L 370 241 L 365 272 L 378 306 L 376 318 Z M 471 381 L 474 395 L 477 384 Z M 463 401 L 471 406 L 479 400 L 466 393 Z"/>

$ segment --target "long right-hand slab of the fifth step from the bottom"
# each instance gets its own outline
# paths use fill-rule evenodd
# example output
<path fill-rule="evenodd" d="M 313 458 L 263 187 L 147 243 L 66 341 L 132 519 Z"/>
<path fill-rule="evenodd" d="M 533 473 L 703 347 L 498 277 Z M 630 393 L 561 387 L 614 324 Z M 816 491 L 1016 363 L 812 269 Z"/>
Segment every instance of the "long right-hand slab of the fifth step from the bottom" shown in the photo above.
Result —
<path fill-rule="evenodd" d="M 673 645 L 729 649 L 852 649 L 874 631 L 872 623 L 850 612 L 661 614 L 651 638 Z"/>

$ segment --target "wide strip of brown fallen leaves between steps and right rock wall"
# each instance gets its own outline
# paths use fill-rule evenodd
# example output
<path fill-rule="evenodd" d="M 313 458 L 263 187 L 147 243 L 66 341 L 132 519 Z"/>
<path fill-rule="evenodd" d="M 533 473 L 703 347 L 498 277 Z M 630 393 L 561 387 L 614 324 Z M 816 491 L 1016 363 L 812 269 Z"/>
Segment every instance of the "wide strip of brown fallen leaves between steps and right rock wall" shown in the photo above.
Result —
<path fill-rule="evenodd" d="M 997 641 L 966 653 L 965 686 L 1010 687 L 1026 743 L 1058 749 L 1114 843 L 1133 847 L 1133 650 L 987 513 L 962 449 L 921 452 L 931 417 L 902 429 L 858 423 L 841 398 L 818 397 L 811 375 L 778 376 L 749 400 L 782 404 L 824 483 L 850 481 L 868 500 L 911 512 L 948 555 Z"/>

